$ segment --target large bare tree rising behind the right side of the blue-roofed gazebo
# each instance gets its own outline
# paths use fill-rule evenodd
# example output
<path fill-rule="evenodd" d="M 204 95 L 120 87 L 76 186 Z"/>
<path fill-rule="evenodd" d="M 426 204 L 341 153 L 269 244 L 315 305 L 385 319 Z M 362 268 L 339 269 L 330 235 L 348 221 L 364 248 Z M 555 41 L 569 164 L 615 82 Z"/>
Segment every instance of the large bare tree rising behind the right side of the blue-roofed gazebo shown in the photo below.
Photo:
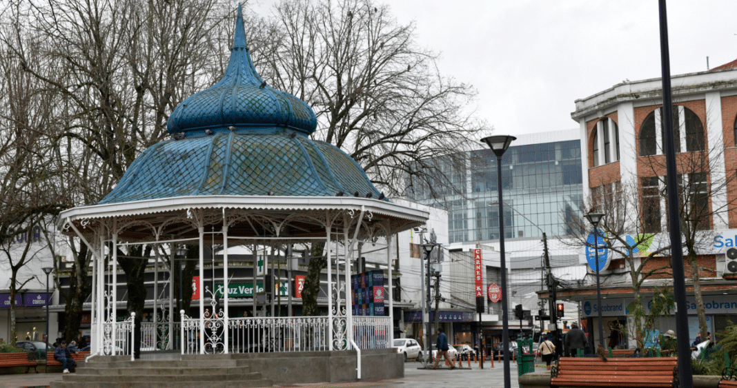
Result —
<path fill-rule="evenodd" d="M 254 49 L 256 67 L 312 106 L 316 138 L 346 151 L 390 195 L 417 184 L 453 187 L 439 158 L 464 167 L 462 151 L 485 126 L 467 110 L 475 90 L 439 74 L 437 55 L 417 46 L 412 24 L 371 0 L 284 0 L 275 14 Z M 322 244 L 311 257 L 305 314 L 317 312 Z"/>

